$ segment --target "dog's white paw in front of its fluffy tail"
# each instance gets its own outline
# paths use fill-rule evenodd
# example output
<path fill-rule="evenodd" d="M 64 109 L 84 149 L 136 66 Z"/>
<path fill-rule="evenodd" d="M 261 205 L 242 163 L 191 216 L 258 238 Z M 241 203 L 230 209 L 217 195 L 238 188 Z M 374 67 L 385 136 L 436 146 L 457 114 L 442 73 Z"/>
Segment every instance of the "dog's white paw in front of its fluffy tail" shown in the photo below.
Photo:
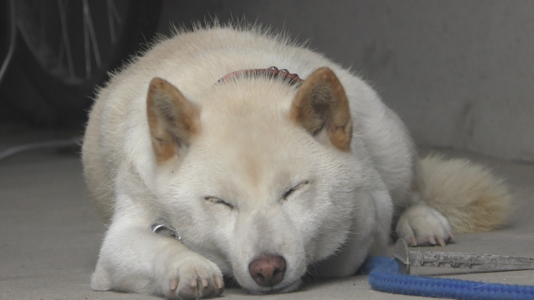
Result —
<path fill-rule="evenodd" d="M 425 205 L 415 205 L 403 211 L 397 222 L 397 234 L 410 246 L 445 246 L 454 238 L 449 221 Z"/>

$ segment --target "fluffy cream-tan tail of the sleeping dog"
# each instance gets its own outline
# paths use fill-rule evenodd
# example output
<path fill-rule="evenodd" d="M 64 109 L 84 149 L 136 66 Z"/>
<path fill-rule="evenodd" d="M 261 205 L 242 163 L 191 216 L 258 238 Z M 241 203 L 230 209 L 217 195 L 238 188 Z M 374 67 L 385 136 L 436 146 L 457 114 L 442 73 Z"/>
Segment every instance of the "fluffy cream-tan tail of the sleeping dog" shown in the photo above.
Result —
<path fill-rule="evenodd" d="M 421 196 L 441 212 L 457 233 L 504 227 L 512 195 L 502 178 L 466 159 L 429 155 L 421 160 Z"/>

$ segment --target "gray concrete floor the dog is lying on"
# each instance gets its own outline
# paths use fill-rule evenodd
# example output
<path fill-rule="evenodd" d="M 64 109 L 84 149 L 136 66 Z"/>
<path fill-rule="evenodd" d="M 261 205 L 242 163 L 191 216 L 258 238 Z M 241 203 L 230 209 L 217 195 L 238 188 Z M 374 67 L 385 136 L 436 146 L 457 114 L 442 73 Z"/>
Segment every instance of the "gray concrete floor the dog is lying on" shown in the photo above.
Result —
<path fill-rule="evenodd" d="M 64 138 L 71 133 L 0 129 L 0 152 L 30 141 Z M 490 165 L 516 194 L 516 214 L 508 228 L 457 234 L 450 252 L 481 252 L 534 257 L 534 165 L 487 159 L 458 152 Z M 89 286 L 104 225 L 85 190 L 74 151 L 37 149 L 0 161 L 0 299 L 157 299 Z M 443 251 L 441 247 L 420 248 Z M 425 272 L 439 272 L 426 270 Z M 419 271 L 418 273 L 421 273 Z M 438 274 L 438 273 L 435 273 Z M 534 271 L 449 275 L 447 278 L 534 284 Z M 226 289 L 227 299 L 408 299 L 373 291 L 365 275 L 310 282 L 285 295 L 254 296 Z"/>

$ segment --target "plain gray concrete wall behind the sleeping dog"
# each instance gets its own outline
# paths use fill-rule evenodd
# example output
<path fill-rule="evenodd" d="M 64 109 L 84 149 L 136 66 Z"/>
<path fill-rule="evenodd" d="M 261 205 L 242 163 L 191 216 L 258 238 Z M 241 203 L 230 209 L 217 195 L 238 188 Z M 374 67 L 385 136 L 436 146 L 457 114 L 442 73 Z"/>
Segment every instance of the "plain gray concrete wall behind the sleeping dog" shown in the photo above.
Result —
<path fill-rule="evenodd" d="M 420 145 L 534 161 L 534 1 L 168 1 L 160 28 L 207 15 L 311 39 Z"/>

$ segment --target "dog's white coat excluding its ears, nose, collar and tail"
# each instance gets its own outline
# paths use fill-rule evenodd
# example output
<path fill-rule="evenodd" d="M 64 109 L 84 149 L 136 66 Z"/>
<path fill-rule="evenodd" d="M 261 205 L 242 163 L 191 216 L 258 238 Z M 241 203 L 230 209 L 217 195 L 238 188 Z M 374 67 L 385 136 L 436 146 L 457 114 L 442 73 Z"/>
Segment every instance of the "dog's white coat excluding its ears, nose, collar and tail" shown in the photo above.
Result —
<path fill-rule="evenodd" d="M 236 70 L 269 66 L 303 79 L 319 67 L 334 71 L 350 102 L 350 152 L 290 122 L 296 88 L 262 78 L 215 84 Z M 153 77 L 175 85 L 201 110 L 201 133 L 164 164 L 156 163 L 146 117 Z M 97 206 L 111 222 L 92 278 L 96 290 L 202 297 L 226 274 L 262 294 L 295 290 L 308 267 L 320 277 L 351 275 L 368 255 L 383 251 L 394 204 L 414 205 L 401 217 L 404 238 L 446 240 L 450 231 L 413 189 L 422 186 L 414 145 L 370 86 L 320 54 L 256 29 L 198 28 L 136 58 L 99 91 L 83 163 Z M 156 218 L 175 226 L 183 243 L 148 232 Z M 274 287 L 256 285 L 248 273 L 262 253 L 286 259 L 284 280 Z M 201 282 L 209 286 L 198 287 Z"/>

